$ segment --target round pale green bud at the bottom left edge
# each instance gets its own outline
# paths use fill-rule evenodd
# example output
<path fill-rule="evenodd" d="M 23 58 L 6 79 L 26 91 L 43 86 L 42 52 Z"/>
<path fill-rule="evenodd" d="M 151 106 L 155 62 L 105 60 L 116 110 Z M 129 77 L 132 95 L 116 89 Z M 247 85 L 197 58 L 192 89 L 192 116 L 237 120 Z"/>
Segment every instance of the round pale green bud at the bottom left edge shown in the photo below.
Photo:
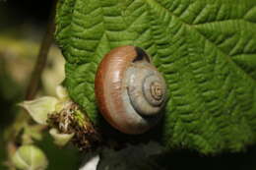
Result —
<path fill-rule="evenodd" d="M 22 170 L 44 170 L 48 160 L 44 153 L 34 145 L 23 145 L 14 154 L 13 163 Z"/>

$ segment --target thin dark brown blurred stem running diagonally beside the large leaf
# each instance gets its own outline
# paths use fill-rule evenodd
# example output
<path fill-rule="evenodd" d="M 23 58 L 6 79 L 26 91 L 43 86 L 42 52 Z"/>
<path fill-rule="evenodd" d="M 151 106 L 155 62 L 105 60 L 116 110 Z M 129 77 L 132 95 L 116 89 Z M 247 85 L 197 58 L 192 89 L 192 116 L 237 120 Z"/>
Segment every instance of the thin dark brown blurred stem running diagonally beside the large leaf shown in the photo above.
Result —
<path fill-rule="evenodd" d="M 48 55 L 51 43 L 53 41 L 53 32 L 55 30 L 54 17 L 56 13 L 56 10 L 55 10 L 56 3 L 57 3 L 57 0 L 53 0 L 53 6 L 50 13 L 49 23 L 47 25 L 46 32 L 43 36 L 43 39 L 40 45 L 40 50 L 37 55 L 36 63 L 34 65 L 30 84 L 28 85 L 28 88 L 27 88 L 26 100 L 31 100 L 34 98 L 39 86 L 41 73 L 46 65 L 47 55 Z"/>

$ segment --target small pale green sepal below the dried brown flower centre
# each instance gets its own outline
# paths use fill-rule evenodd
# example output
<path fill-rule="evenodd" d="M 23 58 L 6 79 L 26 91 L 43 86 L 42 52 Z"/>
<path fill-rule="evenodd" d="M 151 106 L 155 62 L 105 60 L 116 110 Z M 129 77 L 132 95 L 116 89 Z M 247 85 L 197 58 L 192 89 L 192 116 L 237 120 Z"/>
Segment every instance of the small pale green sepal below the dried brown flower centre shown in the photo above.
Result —
<path fill-rule="evenodd" d="M 51 137 L 54 139 L 54 143 L 59 146 L 64 146 L 74 137 L 73 134 L 60 134 L 57 129 L 51 129 L 49 131 Z"/>

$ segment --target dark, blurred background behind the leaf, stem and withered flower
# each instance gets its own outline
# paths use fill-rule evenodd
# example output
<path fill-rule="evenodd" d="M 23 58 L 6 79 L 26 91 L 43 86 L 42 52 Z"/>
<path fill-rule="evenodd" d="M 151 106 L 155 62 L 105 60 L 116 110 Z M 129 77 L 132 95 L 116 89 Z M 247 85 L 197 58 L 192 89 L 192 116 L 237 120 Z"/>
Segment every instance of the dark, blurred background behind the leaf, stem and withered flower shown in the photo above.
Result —
<path fill-rule="evenodd" d="M 51 6 L 51 0 L 0 0 L 0 170 L 8 169 L 5 166 L 8 164 L 7 141 L 13 133 L 15 119 L 19 114 L 22 117 L 26 115 L 17 103 L 25 98 Z M 55 86 L 63 79 L 64 60 L 59 49 L 52 44 L 37 95 L 55 95 Z M 35 143 L 48 157 L 49 170 L 79 168 L 82 155 L 86 153 L 80 153 L 72 145 L 64 149 L 55 146 L 46 132 L 40 138 Z M 143 147 L 146 152 L 150 148 L 160 149 L 159 146 Z M 148 157 L 141 146 L 131 146 L 118 152 L 106 150 L 101 154 L 98 169 L 256 169 L 255 146 L 240 153 L 209 157 L 188 150 L 168 153 L 156 150 L 153 151 L 156 155 Z"/>

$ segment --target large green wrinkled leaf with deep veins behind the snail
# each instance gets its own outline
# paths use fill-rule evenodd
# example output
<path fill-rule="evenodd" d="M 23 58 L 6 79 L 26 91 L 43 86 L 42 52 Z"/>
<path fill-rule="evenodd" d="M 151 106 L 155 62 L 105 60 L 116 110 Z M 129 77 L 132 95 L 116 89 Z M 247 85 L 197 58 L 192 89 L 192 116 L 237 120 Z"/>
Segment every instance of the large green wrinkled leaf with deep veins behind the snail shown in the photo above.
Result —
<path fill-rule="evenodd" d="M 65 85 L 93 122 L 98 63 L 137 45 L 168 85 L 168 148 L 216 153 L 256 141 L 255 0 L 60 0 L 56 24 Z"/>

